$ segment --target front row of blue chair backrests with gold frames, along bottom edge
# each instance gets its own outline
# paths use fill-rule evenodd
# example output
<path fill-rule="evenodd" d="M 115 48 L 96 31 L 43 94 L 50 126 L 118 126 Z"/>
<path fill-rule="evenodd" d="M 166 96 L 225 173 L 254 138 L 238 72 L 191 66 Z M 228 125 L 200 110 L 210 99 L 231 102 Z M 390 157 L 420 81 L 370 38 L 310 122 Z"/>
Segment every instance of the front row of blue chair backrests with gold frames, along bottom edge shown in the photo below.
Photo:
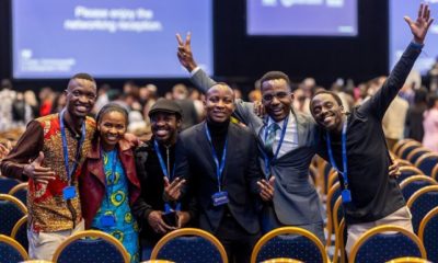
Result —
<path fill-rule="evenodd" d="M 341 225 L 344 228 L 344 225 Z M 342 239 L 339 240 L 342 241 Z M 0 256 L 5 262 L 28 259 L 26 251 L 12 238 L 0 236 Z M 367 231 L 354 245 L 350 262 L 393 262 L 414 256 L 425 261 L 422 240 L 396 226 L 380 226 Z M 222 244 L 212 235 L 194 228 L 183 228 L 164 236 L 152 251 L 149 262 L 228 263 Z M 55 252 L 53 262 L 129 262 L 122 243 L 101 231 L 87 230 L 68 238 Z M 320 240 L 311 232 L 284 227 L 262 237 L 254 247 L 251 262 L 330 262 Z M 403 261 L 395 261 L 403 262 Z M 405 261 L 406 262 L 406 261 Z M 413 262 L 413 261 L 407 261 Z"/>

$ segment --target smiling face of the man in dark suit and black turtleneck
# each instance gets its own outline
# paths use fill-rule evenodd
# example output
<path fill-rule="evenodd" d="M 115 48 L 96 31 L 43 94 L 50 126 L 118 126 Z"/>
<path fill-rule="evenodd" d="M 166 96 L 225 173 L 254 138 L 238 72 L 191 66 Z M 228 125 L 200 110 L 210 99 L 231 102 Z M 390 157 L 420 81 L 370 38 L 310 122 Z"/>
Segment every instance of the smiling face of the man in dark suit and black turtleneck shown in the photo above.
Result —
<path fill-rule="evenodd" d="M 228 122 L 234 111 L 234 92 L 227 84 L 216 84 L 207 91 L 204 106 L 208 119 L 215 123 Z"/>

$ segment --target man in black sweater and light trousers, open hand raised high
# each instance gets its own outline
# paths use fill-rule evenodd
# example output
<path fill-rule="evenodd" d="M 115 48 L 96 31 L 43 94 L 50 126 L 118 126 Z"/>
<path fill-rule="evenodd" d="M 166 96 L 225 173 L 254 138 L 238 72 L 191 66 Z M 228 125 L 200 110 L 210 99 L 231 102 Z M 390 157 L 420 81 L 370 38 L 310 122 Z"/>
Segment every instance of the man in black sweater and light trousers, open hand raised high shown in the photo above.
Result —
<path fill-rule="evenodd" d="M 388 176 L 391 159 L 382 130 L 383 115 L 397 95 L 416 58 L 433 20 L 422 4 L 415 22 L 405 18 L 414 41 L 408 45 L 383 87 L 362 105 L 345 113 L 341 99 L 321 91 L 310 103 L 312 116 L 323 129 L 319 155 L 339 174 L 348 229 L 346 251 L 372 227 L 396 225 L 413 231 L 411 213 L 393 178 Z"/>

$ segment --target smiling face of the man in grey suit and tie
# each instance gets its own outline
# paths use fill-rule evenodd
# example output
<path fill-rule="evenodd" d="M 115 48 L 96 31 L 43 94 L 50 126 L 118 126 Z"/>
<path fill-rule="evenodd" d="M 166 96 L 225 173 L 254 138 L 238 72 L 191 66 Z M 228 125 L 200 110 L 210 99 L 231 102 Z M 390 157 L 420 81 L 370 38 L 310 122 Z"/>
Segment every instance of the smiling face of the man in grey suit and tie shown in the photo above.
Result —
<path fill-rule="evenodd" d="M 266 113 L 275 121 L 285 119 L 291 110 L 293 93 L 284 79 L 272 79 L 262 83 L 262 103 Z"/>

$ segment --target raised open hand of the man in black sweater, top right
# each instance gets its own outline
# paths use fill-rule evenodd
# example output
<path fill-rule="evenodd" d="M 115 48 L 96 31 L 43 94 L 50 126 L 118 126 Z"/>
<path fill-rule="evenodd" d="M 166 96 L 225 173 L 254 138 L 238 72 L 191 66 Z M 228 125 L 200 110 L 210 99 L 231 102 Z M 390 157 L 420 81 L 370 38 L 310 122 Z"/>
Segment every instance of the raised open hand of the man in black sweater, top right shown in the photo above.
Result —
<path fill-rule="evenodd" d="M 412 21 L 408 16 L 404 16 L 404 20 L 411 27 L 415 43 L 423 44 L 429 26 L 434 22 L 434 19 L 430 19 L 429 5 L 424 3 L 419 4 L 416 21 Z"/>

